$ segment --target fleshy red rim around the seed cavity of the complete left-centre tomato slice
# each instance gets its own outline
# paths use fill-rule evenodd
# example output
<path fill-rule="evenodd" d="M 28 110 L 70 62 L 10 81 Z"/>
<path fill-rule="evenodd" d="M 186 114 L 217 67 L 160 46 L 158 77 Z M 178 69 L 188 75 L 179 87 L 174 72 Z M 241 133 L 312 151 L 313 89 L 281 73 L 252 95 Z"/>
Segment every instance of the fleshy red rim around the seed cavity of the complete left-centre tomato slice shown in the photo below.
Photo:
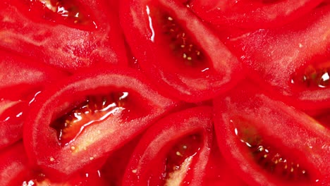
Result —
<path fill-rule="evenodd" d="M 139 105 L 87 126 L 68 144 L 59 142 L 56 130 L 50 127 L 56 118 L 88 95 L 106 94 L 116 89 L 130 92 L 130 99 Z M 99 168 L 97 164 L 104 163 L 102 159 L 176 104 L 178 101 L 159 94 L 138 71 L 94 69 L 82 72 L 53 85 L 32 105 L 23 131 L 27 155 L 31 163 L 40 166 L 45 173 L 64 178 L 90 166 Z"/>

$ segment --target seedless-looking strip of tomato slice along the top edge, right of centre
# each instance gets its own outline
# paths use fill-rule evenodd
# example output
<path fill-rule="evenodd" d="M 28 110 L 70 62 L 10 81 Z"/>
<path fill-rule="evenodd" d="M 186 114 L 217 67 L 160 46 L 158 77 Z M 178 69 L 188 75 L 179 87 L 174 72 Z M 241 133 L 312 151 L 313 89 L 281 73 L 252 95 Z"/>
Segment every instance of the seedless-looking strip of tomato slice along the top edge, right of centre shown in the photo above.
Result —
<path fill-rule="evenodd" d="M 312 11 L 322 0 L 191 0 L 190 8 L 213 25 L 279 27 Z"/>

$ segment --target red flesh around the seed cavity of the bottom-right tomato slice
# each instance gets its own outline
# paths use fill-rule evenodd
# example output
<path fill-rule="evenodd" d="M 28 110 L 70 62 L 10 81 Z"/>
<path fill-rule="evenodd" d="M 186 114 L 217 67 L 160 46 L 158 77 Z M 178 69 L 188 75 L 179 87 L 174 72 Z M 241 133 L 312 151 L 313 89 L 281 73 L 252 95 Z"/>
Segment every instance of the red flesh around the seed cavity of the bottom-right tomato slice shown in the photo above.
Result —
<path fill-rule="evenodd" d="M 241 82 L 236 89 L 214 99 L 216 139 L 236 175 L 247 185 L 329 185 L 329 129 L 254 87 L 252 83 Z M 310 171 L 310 182 L 286 182 L 264 171 L 236 135 L 237 120 L 248 122 L 280 154 L 305 166 Z"/>

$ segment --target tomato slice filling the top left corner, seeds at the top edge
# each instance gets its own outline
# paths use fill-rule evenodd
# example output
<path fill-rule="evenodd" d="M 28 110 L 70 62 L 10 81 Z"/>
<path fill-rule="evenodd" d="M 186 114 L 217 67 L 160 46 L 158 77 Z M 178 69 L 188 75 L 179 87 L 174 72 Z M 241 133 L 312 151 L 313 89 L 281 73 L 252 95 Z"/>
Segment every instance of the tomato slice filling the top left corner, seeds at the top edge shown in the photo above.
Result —
<path fill-rule="evenodd" d="M 75 71 L 126 66 L 112 1 L 6 0 L 0 4 L 0 46 Z"/>

